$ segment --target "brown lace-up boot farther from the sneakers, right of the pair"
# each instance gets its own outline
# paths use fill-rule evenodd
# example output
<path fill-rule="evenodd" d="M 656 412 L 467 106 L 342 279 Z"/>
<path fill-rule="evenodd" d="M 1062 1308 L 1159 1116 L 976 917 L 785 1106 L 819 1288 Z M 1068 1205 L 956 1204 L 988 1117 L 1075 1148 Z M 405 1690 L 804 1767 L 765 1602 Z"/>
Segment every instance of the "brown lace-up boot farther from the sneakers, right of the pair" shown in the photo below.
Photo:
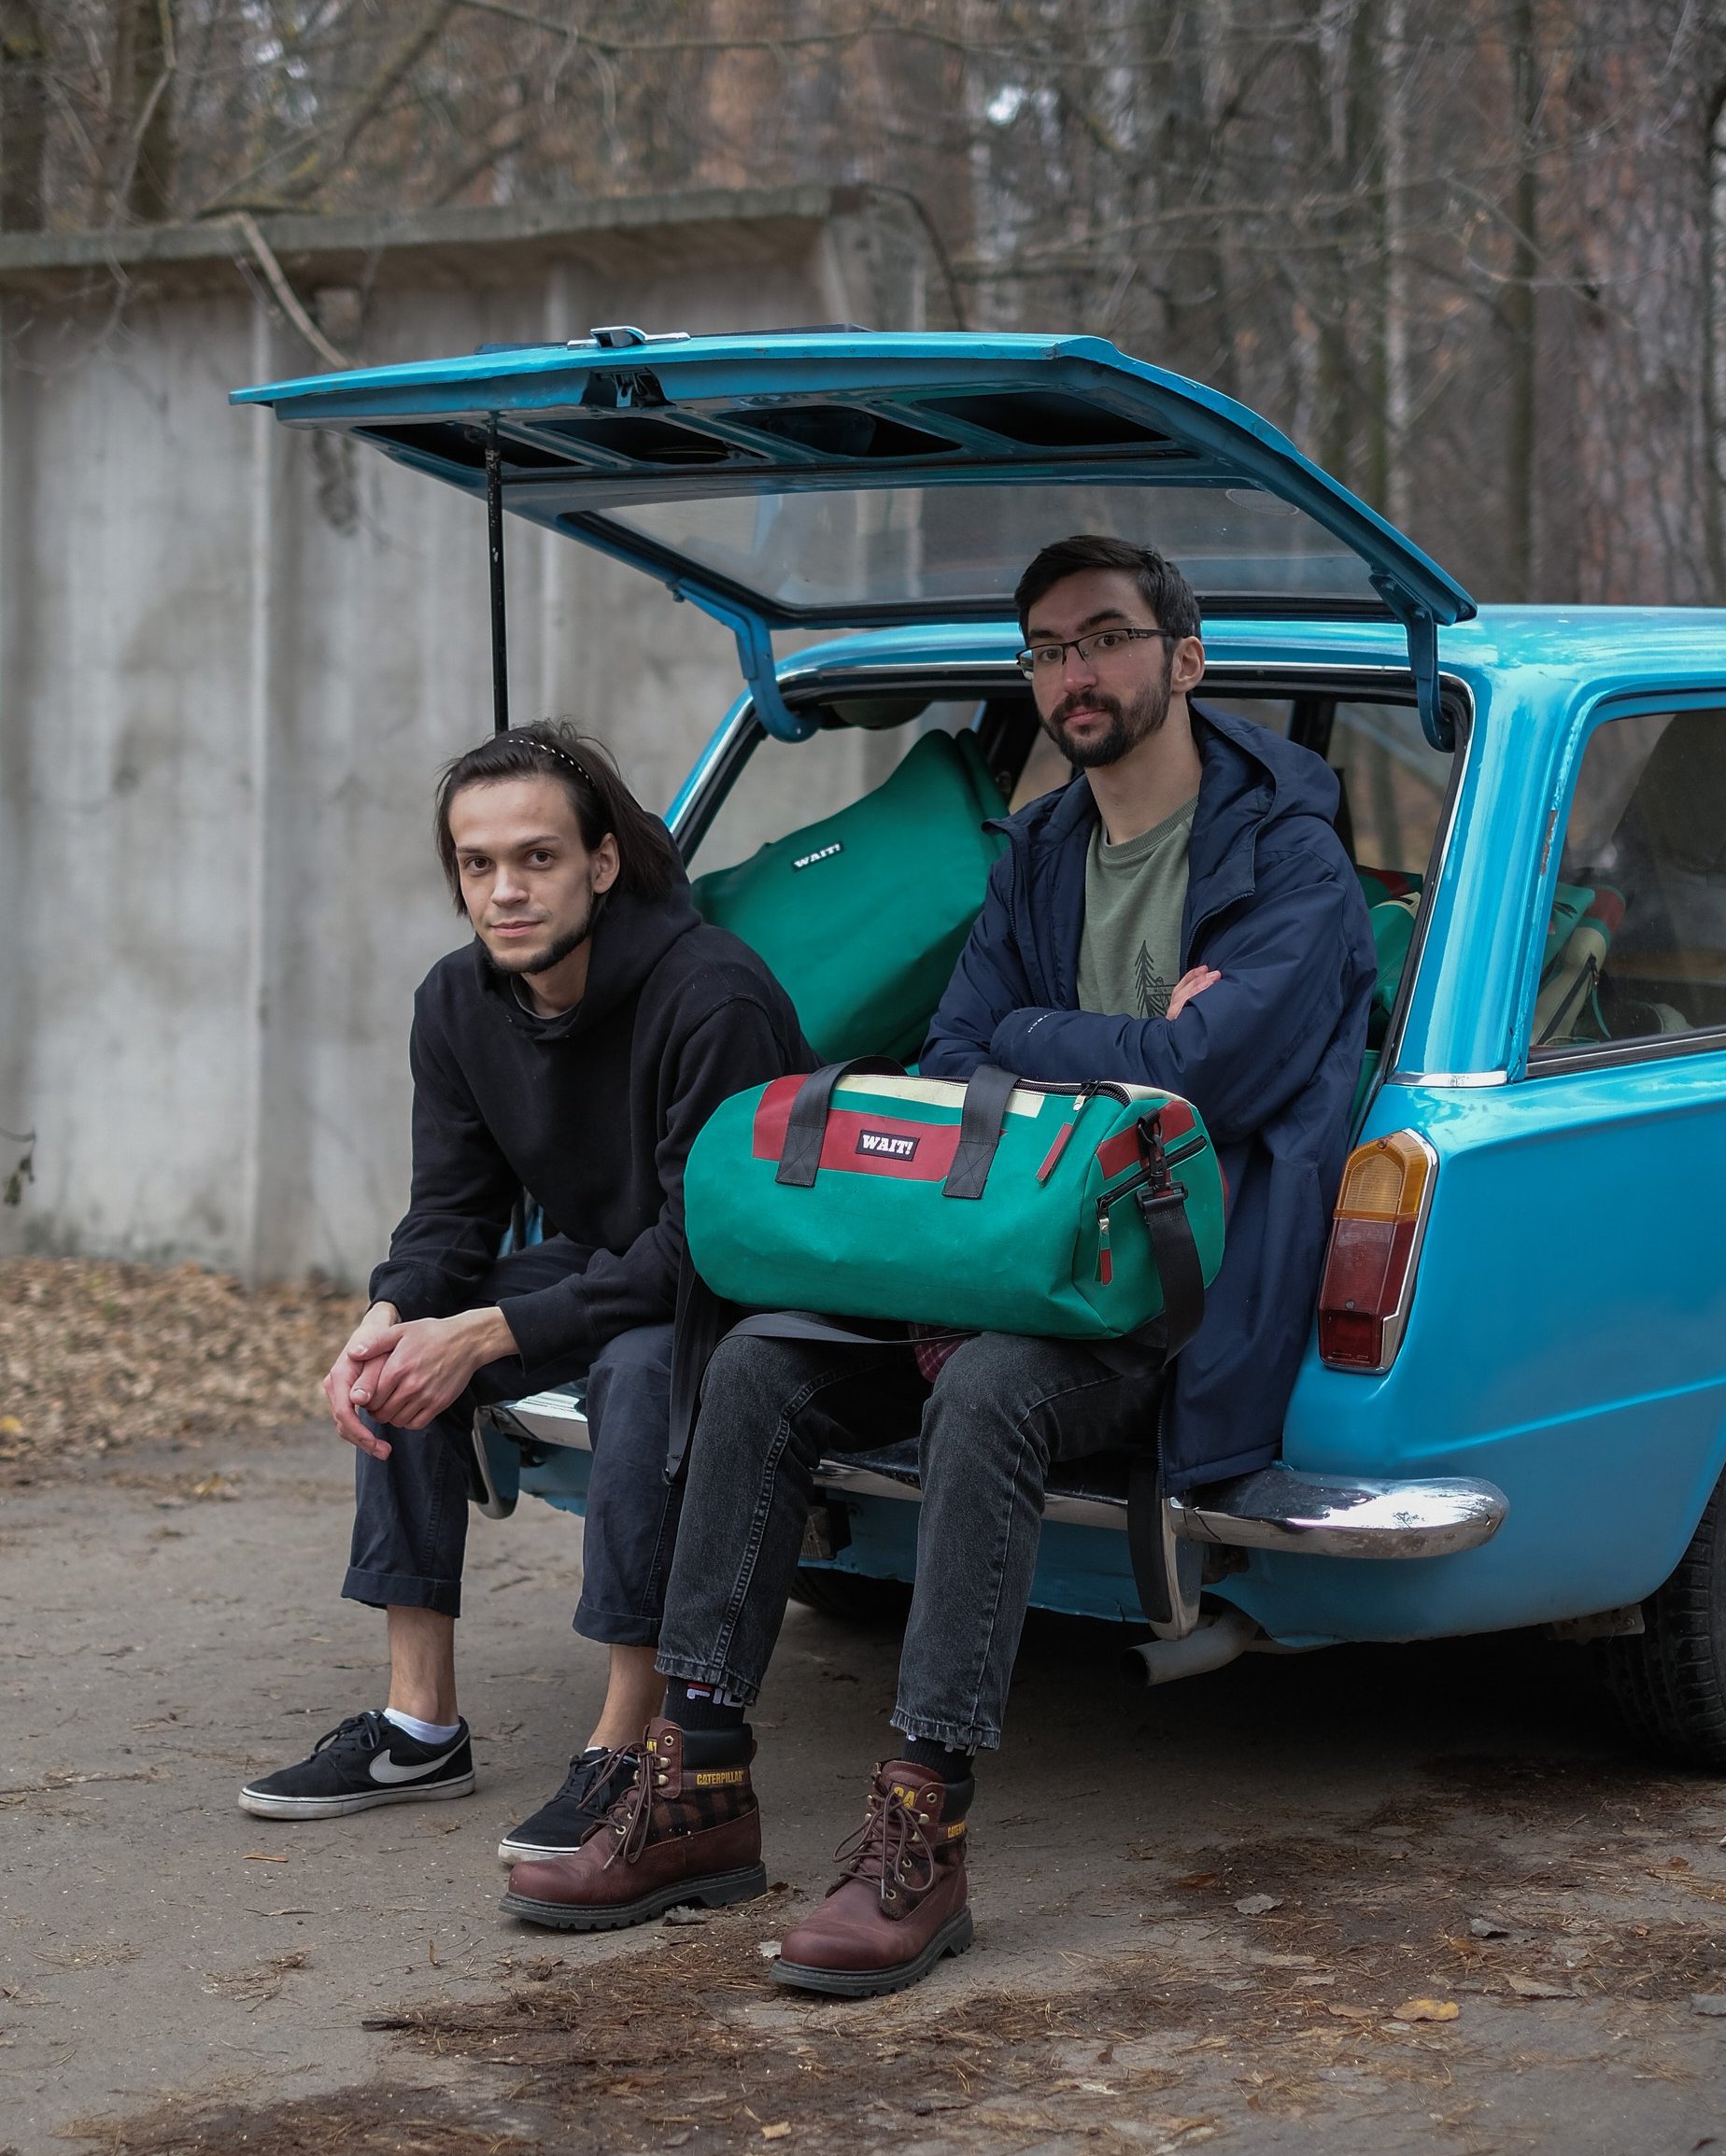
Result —
<path fill-rule="evenodd" d="M 779 1947 L 775 1984 L 872 1999 L 926 1977 L 971 1945 L 964 1807 L 915 1759 L 876 1768 L 869 1815 L 835 1850 L 844 1878 Z"/>

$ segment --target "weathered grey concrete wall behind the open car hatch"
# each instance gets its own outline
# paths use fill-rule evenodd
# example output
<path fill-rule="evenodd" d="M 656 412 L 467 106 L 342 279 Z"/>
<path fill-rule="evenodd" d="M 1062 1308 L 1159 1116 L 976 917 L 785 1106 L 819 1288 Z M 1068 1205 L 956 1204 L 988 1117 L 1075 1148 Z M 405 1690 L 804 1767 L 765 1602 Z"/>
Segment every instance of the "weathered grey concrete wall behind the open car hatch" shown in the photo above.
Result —
<path fill-rule="evenodd" d="M 367 362 L 921 313 L 915 235 L 818 190 L 265 233 Z M 0 1250 L 352 1281 L 406 1199 L 412 990 L 460 940 L 429 798 L 490 729 L 485 526 L 227 405 L 317 364 L 244 252 L 0 239 L 0 1130 L 37 1132 Z M 572 714 L 665 806 L 729 638 L 513 520 L 509 576 L 516 716 Z"/>

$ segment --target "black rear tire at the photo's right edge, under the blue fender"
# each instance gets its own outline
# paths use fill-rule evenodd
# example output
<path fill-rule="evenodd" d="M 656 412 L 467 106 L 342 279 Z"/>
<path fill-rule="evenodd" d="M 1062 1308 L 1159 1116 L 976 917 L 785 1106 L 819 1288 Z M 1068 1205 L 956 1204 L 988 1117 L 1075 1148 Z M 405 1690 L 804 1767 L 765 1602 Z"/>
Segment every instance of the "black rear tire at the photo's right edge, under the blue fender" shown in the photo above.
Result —
<path fill-rule="evenodd" d="M 1726 1768 L 1726 1479 L 1679 1570 L 1642 1604 L 1646 1630 L 1601 1641 L 1631 1736 L 1679 1766 Z"/>

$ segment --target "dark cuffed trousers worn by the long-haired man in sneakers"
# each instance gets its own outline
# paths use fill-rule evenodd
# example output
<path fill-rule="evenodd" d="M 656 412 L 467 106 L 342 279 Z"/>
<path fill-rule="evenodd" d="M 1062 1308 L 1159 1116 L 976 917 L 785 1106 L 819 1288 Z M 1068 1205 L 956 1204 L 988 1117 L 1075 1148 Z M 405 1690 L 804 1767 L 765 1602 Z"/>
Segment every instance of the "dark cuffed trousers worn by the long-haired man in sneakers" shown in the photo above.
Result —
<path fill-rule="evenodd" d="M 561 1255 L 567 1248 L 554 1240 L 501 1257 L 481 1281 L 475 1309 L 578 1270 Z M 576 1378 L 587 1380 L 593 1447 L 576 1632 L 608 1645 L 652 1647 L 660 1634 L 682 1501 L 682 1490 L 665 1479 L 671 1326 L 619 1332 L 591 1365 L 585 1356 L 565 1356 L 542 1369 L 522 1369 L 513 1356 L 488 1363 L 475 1376 L 470 1395 L 427 1429 L 375 1425 L 391 1440 L 391 1457 L 356 1453 L 354 1548 L 343 1595 L 378 1608 L 395 1602 L 460 1617 L 472 1410 Z"/>

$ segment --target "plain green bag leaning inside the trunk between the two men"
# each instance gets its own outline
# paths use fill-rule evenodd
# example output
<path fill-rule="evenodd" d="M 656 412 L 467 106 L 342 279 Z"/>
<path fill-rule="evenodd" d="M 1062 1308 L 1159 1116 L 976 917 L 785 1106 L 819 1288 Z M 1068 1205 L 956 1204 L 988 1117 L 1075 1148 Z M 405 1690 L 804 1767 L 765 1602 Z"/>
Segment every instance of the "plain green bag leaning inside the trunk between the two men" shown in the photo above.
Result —
<path fill-rule="evenodd" d="M 971 733 L 926 733 L 861 802 L 693 886 L 759 953 L 820 1056 L 915 1056 L 1008 843 Z"/>

